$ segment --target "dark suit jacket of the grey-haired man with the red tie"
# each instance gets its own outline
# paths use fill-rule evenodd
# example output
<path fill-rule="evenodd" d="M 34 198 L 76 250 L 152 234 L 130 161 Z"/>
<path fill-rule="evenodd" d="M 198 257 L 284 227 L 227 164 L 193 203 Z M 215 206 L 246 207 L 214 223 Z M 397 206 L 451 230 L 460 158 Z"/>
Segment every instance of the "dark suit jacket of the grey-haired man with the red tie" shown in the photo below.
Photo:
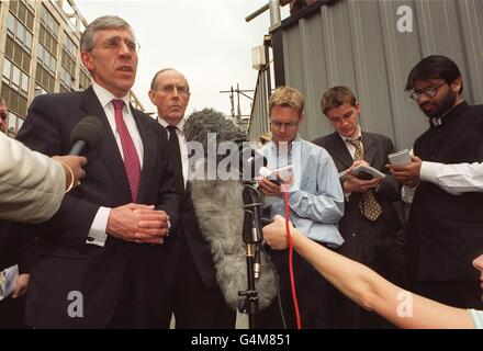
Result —
<path fill-rule="evenodd" d="M 176 226 L 179 194 L 172 185 L 167 158 L 167 135 L 141 111 L 132 112 L 144 145 L 143 170 L 137 203 L 155 204 Z M 38 259 L 27 292 L 26 321 L 30 326 L 104 327 L 117 306 L 126 270 L 136 272 L 143 301 L 149 312 L 162 314 L 172 283 L 172 244 L 133 244 L 108 236 L 105 247 L 86 239 L 100 206 L 131 203 L 131 190 L 114 135 L 92 87 L 82 92 L 40 95 L 32 102 L 18 139 L 46 155 L 66 155 L 70 132 L 85 116 L 104 125 L 102 141 L 87 155 L 82 184 L 66 195 L 53 218 L 37 225 Z M 82 294 L 83 316 L 71 318 L 71 292 Z M 76 298 L 76 302 L 79 301 Z"/>

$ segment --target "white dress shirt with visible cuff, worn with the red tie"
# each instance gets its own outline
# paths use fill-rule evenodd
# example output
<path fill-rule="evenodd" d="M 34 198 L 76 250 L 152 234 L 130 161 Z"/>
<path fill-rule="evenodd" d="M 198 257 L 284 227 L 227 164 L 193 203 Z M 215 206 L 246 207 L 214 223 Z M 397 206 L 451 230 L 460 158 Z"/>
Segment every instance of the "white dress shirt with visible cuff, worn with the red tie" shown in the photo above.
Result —
<path fill-rule="evenodd" d="M 119 98 L 114 97 L 110 91 L 97 84 L 96 82 L 92 83 L 92 88 L 99 101 L 101 102 L 102 107 L 104 109 L 104 113 L 105 116 L 108 117 L 109 125 L 111 126 L 115 141 L 117 143 L 117 148 L 120 150 L 121 157 L 124 160 L 121 137 L 117 132 L 117 127 L 114 118 L 114 105 L 111 102 L 113 99 L 119 99 Z M 134 120 L 134 116 L 131 112 L 130 98 L 128 95 L 125 95 L 121 100 L 124 101 L 124 107 L 123 107 L 124 122 L 126 124 L 127 131 L 130 132 L 131 138 L 133 139 L 134 147 L 136 148 L 137 151 L 137 157 L 139 158 L 141 169 L 143 170 L 144 146 L 139 135 L 139 131 L 137 129 L 136 121 Z M 108 238 L 108 234 L 105 233 L 105 230 L 108 228 L 108 219 L 111 210 L 112 208 L 103 207 L 103 206 L 99 207 L 99 211 L 96 214 L 94 220 L 92 222 L 92 226 L 89 230 L 89 238 L 91 238 L 90 239 L 91 241 L 86 240 L 86 244 L 92 244 L 102 247 L 105 245 L 105 239 Z"/>

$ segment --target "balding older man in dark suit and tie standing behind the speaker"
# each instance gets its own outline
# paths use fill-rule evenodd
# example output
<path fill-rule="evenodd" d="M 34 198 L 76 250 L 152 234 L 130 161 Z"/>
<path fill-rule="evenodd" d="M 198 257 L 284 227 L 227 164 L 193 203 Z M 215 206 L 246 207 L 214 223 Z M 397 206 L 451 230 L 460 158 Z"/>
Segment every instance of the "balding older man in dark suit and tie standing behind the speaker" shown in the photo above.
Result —
<path fill-rule="evenodd" d="M 236 313 L 220 291 L 210 245 L 201 234 L 191 201 L 183 132 L 190 101 L 188 80 L 172 68 L 161 69 L 153 78 L 149 99 L 158 110 L 158 122 L 168 131 L 175 183 L 182 194 L 181 224 L 175 234 L 179 250 L 173 294 L 176 328 L 235 328 Z"/>

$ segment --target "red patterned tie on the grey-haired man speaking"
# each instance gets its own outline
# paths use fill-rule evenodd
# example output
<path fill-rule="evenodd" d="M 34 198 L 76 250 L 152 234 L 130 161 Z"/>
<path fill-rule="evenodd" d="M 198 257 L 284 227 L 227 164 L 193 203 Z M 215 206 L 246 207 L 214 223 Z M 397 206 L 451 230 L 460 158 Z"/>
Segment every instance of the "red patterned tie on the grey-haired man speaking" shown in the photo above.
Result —
<path fill-rule="evenodd" d="M 136 148 L 134 147 L 133 139 L 127 131 L 126 124 L 123 117 L 124 101 L 114 99 L 112 100 L 114 106 L 114 118 L 117 127 L 117 133 L 121 137 L 121 145 L 123 147 L 124 155 L 124 168 L 126 169 L 127 180 L 130 181 L 131 196 L 133 202 L 137 200 L 137 189 L 139 188 L 141 179 L 141 163 L 137 156 Z"/>

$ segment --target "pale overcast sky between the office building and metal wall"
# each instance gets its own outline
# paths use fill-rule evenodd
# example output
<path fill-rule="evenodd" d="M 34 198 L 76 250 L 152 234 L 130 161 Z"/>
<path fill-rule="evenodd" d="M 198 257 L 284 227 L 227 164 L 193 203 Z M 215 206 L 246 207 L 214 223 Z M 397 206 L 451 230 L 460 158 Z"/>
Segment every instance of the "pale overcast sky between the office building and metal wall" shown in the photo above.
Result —
<path fill-rule="evenodd" d="M 245 18 L 266 3 L 268 0 L 76 1 L 88 22 L 115 14 L 133 27 L 141 45 L 133 91 L 147 112 L 156 111 L 147 92 L 159 69 L 176 68 L 187 77 L 191 90 L 187 115 L 204 107 L 229 115 L 229 94 L 220 91 L 237 84 L 255 89 L 251 48 L 262 45 L 270 15 L 266 11 L 248 23 Z M 282 19 L 288 12 L 288 5 L 282 8 Z M 249 99 L 242 97 L 240 105 L 242 114 L 250 113 Z"/>

